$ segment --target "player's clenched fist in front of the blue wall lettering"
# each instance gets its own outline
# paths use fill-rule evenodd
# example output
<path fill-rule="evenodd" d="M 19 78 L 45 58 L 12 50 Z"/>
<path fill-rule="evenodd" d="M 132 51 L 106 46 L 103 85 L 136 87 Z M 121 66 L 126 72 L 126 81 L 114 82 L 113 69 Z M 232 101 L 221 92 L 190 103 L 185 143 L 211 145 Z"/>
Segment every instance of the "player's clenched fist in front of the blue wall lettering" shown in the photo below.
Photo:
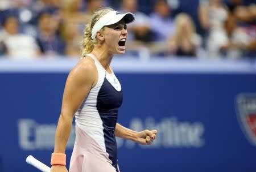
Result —
<path fill-rule="evenodd" d="M 156 130 L 144 130 L 141 132 L 138 132 L 136 134 L 136 141 L 139 144 L 152 144 L 152 142 L 155 140 L 155 136 L 158 131 Z"/>

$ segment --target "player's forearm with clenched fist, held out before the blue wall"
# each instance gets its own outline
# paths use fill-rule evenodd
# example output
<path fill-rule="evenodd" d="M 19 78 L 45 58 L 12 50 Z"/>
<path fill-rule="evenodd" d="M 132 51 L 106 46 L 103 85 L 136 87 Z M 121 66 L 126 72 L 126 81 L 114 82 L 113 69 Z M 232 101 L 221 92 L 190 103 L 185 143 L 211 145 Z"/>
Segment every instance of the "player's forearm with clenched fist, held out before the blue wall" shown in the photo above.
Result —
<path fill-rule="evenodd" d="M 141 132 L 130 130 L 117 123 L 115 126 L 115 136 L 135 141 L 139 144 L 151 144 L 155 139 L 156 130 L 144 130 Z"/>

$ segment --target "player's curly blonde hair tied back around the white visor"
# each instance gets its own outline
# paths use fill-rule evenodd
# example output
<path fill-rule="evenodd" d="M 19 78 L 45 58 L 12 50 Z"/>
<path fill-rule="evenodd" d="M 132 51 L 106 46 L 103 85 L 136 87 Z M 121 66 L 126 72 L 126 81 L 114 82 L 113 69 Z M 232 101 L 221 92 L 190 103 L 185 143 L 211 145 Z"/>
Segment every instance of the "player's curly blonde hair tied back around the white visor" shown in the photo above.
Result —
<path fill-rule="evenodd" d="M 84 40 L 82 40 L 82 55 L 89 54 L 92 52 L 94 45 L 97 44 L 97 38 L 93 39 L 91 37 L 92 35 L 92 28 L 94 24 L 105 14 L 107 14 L 110 11 L 114 11 L 112 8 L 104 7 L 99 8 L 98 10 L 93 12 L 92 20 L 90 23 L 86 24 L 86 27 L 84 29 Z M 104 31 L 104 28 L 102 28 L 100 31 Z"/>

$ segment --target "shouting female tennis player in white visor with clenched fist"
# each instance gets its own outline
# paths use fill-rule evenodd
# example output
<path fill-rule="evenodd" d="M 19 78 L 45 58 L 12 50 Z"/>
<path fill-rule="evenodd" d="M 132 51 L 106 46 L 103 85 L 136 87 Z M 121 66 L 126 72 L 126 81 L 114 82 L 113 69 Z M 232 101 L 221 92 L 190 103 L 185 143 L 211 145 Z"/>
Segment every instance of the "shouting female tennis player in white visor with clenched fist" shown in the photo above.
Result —
<path fill-rule="evenodd" d="M 141 132 L 117 123 L 122 89 L 110 67 L 114 54 L 124 54 L 130 12 L 120 14 L 112 8 L 94 12 L 86 25 L 83 57 L 68 75 L 56 128 L 51 171 L 67 171 L 65 145 L 76 122 L 76 141 L 69 172 L 119 172 L 115 136 L 151 144 L 156 130 Z"/>

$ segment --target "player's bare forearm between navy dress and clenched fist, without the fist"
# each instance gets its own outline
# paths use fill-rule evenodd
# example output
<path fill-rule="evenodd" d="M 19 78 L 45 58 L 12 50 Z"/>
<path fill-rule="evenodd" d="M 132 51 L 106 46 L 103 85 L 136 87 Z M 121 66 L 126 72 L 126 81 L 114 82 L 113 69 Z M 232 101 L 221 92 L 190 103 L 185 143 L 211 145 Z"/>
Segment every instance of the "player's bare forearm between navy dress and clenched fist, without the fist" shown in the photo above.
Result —
<path fill-rule="evenodd" d="M 124 139 L 137 141 L 137 131 L 130 130 L 129 128 L 121 126 L 121 124 L 117 123 L 115 126 L 115 136 L 122 137 Z"/>

